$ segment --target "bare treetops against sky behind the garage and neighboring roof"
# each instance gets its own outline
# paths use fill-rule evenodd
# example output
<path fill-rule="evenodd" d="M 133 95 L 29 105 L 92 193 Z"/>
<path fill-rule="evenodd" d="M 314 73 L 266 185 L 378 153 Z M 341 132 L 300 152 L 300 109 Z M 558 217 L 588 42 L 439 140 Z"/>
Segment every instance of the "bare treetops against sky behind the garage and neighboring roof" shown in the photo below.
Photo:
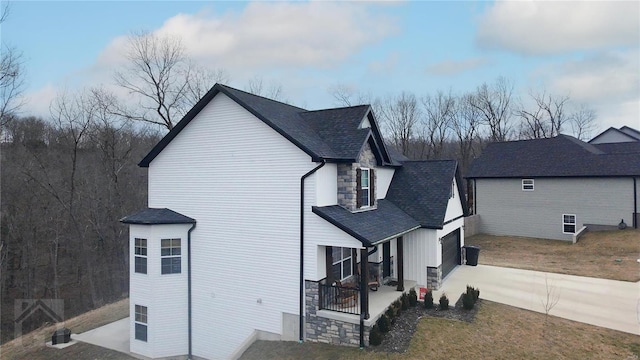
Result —
<path fill-rule="evenodd" d="M 329 92 L 337 105 L 371 104 L 386 139 L 406 157 L 456 159 L 463 174 L 487 143 L 560 133 L 588 140 L 596 127 L 596 112 L 585 104 L 572 104 L 568 96 L 546 90 L 521 98 L 504 77 L 462 94 L 403 91 L 374 97 L 345 85 Z"/>

